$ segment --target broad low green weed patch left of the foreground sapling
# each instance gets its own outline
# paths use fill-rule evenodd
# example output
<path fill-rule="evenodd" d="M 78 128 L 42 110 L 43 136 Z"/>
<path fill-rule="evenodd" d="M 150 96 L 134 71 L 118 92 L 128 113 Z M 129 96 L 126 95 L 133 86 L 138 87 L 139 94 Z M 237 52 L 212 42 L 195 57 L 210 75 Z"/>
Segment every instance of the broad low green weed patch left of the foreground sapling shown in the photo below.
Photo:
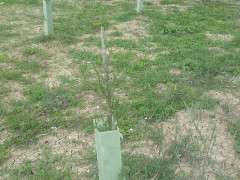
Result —
<path fill-rule="evenodd" d="M 12 144 L 23 145 L 37 140 L 37 134 L 52 127 L 73 127 L 80 121 L 63 112 L 78 104 L 74 92 L 63 87 L 46 88 L 43 84 L 25 90 L 26 100 L 11 101 L 12 109 L 5 113 L 4 125 L 11 132 Z"/>

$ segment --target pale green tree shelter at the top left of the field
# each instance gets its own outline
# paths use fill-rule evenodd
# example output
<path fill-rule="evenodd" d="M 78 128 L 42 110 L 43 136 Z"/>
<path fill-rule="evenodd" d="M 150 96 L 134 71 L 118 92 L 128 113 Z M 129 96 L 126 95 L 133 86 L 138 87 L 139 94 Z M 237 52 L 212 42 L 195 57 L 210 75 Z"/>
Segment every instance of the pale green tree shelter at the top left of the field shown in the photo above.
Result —
<path fill-rule="evenodd" d="M 43 14 L 44 14 L 44 34 L 53 34 L 52 25 L 52 0 L 43 0 Z"/>

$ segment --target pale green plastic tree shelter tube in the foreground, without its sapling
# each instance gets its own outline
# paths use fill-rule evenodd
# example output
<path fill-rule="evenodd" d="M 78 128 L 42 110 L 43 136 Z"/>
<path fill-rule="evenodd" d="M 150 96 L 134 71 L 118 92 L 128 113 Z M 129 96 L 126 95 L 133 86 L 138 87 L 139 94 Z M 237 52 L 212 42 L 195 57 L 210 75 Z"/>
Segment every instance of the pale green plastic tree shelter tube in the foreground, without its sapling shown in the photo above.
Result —
<path fill-rule="evenodd" d="M 97 149 L 97 161 L 99 180 L 118 180 L 122 169 L 122 156 L 120 137 L 122 137 L 116 126 L 112 131 L 101 132 L 107 118 L 94 119 L 94 133 Z"/>

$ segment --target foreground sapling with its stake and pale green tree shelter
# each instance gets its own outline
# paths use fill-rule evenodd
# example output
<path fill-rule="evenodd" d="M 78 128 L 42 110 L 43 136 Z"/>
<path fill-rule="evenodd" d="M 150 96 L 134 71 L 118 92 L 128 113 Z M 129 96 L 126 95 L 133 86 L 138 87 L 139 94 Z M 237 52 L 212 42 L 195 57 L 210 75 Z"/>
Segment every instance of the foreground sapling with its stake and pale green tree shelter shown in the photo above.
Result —
<path fill-rule="evenodd" d="M 94 119 L 94 133 L 98 159 L 99 180 L 117 180 L 122 169 L 122 137 L 112 116 L 112 88 L 104 42 L 104 28 L 101 27 L 103 75 L 96 69 L 99 84 L 107 104 L 107 117 Z"/>

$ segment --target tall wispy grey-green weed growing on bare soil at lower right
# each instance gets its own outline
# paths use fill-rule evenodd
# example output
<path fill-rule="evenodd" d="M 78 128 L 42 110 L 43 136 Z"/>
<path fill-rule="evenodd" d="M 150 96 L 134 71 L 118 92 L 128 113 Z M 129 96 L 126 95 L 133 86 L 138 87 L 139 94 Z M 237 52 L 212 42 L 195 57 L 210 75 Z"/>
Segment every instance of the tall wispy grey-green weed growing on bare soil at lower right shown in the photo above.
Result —
<path fill-rule="evenodd" d="M 191 111 L 188 111 L 188 115 Z M 196 177 L 197 179 L 206 178 L 206 170 L 213 163 L 210 153 L 216 142 L 216 125 L 207 135 L 203 135 L 196 119 L 191 117 L 188 126 L 183 125 L 185 133 L 180 133 L 178 120 L 175 120 L 174 140 L 169 149 L 165 153 L 172 157 L 173 162 L 177 163 L 181 160 L 185 161 L 189 168 L 189 174 L 185 174 L 185 178 Z M 183 135 L 184 134 L 184 135 Z M 188 176 L 188 178 L 187 178 Z"/>

